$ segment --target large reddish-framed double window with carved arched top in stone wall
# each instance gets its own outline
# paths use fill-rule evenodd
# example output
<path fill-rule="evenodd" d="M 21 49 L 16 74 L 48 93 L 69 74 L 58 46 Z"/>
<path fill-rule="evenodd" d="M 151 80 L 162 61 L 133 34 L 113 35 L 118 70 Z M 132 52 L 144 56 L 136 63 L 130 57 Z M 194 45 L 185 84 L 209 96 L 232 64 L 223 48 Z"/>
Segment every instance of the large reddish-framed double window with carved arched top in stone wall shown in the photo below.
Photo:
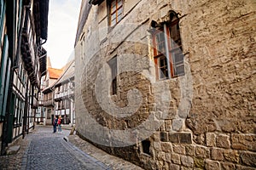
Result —
<path fill-rule="evenodd" d="M 154 63 L 159 80 L 184 75 L 183 49 L 180 38 L 177 14 L 170 14 L 170 23 L 152 31 Z"/>

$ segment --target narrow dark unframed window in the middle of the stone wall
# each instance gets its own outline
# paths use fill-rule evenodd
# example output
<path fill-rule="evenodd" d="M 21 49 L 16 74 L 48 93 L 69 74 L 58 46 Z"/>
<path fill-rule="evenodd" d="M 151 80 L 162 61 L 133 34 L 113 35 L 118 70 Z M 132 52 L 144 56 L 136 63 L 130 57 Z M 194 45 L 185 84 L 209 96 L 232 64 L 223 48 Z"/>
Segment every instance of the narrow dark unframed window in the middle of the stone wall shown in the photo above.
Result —
<path fill-rule="evenodd" d="M 111 90 L 112 90 L 112 95 L 117 94 L 117 82 L 116 82 L 116 76 L 117 76 L 117 58 L 116 56 L 113 57 L 113 59 L 110 59 L 108 61 L 108 65 L 110 66 L 111 69 L 111 78 L 112 78 L 112 83 L 111 83 Z"/>

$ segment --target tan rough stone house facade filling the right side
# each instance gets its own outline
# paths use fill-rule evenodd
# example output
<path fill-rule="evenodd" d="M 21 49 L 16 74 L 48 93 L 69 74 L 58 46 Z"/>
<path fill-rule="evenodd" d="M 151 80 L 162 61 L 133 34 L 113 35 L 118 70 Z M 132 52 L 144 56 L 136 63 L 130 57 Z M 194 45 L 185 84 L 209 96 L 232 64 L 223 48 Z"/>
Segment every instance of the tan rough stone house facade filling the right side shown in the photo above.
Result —
<path fill-rule="evenodd" d="M 255 19 L 253 0 L 84 0 L 77 132 L 145 169 L 253 169 Z"/>

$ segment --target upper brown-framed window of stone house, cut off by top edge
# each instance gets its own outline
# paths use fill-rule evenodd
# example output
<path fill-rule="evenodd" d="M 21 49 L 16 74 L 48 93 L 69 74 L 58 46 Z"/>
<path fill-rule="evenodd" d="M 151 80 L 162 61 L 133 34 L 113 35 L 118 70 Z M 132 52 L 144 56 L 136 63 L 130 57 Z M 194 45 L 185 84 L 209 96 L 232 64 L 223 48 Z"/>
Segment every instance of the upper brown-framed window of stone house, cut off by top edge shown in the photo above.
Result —
<path fill-rule="evenodd" d="M 123 17 L 123 0 L 109 1 L 109 25 L 115 26 Z"/>

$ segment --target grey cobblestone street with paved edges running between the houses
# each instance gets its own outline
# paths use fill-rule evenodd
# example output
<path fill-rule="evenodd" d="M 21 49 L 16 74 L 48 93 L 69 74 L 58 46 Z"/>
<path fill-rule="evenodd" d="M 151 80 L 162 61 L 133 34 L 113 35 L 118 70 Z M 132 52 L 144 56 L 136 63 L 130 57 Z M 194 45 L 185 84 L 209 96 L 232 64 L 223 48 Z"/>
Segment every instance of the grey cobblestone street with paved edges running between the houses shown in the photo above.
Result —
<path fill-rule="evenodd" d="M 77 135 L 68 136 L 69 132 L 62 129 L 62 133 L 52 133 L 51 127 L 36 127 L 20 140 L 16 155 L 0 157 L 0 169 L 141 169 L 108 155 Z"/>

